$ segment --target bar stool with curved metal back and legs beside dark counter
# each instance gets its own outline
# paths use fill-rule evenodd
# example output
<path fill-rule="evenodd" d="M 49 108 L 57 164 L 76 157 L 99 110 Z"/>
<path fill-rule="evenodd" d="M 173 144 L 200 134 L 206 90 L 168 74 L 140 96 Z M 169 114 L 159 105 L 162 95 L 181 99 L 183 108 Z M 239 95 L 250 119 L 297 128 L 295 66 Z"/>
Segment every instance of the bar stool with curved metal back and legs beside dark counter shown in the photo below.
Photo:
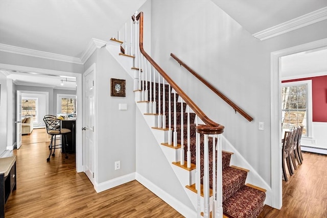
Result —
<path fill-rule="evenodd" d="M 46 126 L 46 132 L 49 135 L 51 135 L 51 142 L 50 142 L 50 147 L 49 147 L 50 154 L 49 154 L 49 157 L 46 159 L 46 161 L 50 161 L 50 156 L 51 156 L 52 150 L 53 150 L 52 156 L 55 156 L 55 150 L 60 149 L 60 148 L 63 149 L 63 151 L 64 151 L 64 153 L 66 155 L 65 158 L 67 159 L 68 156 L 67 156 L 67 153 L 66 153 L 66 150 L 65 150 L 65 146 L 68 146 L 67 145 L 67 135 L 66 135 L 66 133 L 71 132 L 71 130 L 62 129 L 60 119 L 57 119 L 57 118 L 53 117 L 52 115 L 51 116 L 45 115 L 44 118 L 43 118 L 43 121 L 44 121 L 45 126 Z M 63 137 L 62 137 L 62 143 L 56 145 L 56 136 L 57 135 L 59 135 L 59 136 L 62 135 Z M 54 144 L 53 144 L 53 140 L 55 141 Z M 59 146 L 61 146 L 61 147 L 59 147 Z"/>

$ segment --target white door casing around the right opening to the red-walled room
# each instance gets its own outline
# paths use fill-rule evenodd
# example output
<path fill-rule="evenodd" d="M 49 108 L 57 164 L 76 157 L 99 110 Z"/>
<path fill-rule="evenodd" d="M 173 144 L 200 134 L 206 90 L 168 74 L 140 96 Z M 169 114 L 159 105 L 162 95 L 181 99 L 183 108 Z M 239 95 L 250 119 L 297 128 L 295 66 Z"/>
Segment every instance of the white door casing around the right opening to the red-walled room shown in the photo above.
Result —
<path fill-rule="evenodd" d="M 281 110 L 281 57 L 299 52 L 305 52 L 327 46 L 327 38 L 306 44 L 289 47 L 271 53 L 270 95 L 271 95 L 271 193 L 272 207 L 281 209 L 282 202 L 282 110 Z M 276 118 L 278 117 L 278 118 Z M 276 146 L 276 145 L 279 146 Z"/>

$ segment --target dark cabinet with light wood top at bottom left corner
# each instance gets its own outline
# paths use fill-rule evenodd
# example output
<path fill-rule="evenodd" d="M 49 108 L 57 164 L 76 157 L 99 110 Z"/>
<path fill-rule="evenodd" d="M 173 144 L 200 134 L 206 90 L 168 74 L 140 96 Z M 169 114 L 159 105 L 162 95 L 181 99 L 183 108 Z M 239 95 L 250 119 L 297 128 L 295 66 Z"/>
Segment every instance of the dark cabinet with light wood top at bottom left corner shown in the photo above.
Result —
<path fill-rule="evenodd" d="M 16 190 L 16 157 L 0 158 L 0 218 L 5 217 L 5 205 Z"/>

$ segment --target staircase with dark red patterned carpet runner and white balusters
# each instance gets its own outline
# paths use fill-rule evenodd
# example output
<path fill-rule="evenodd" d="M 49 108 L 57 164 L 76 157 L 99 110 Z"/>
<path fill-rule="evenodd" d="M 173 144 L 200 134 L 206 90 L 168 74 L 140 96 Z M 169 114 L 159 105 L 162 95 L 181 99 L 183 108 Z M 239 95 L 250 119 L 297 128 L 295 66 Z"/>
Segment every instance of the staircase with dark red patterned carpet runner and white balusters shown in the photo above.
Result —
<path fill-rule="evenodd" d="M 132 16 L 134 22 L 138 16 Z M 142 41 L 141 29 L 140 38 Z M 219 125 L 214 122 L 212 126 L 208 125 L 211 120 L 206 116 L 200 119 L 199 112 L 194 112 L 200 110 L 194 107 L 192 101 L 185 103 L 178 94 L 184 93 L 176 89 L 176 84 L 167 84 L 165 77 L 160 79 L 163 76 L 161 72 L 155 75 L 158 66 L 156 70 L 154 67 L 152 70 L 151 66 L 148 69 L 147 62 L 144 64 L 146 57 L 142 59 L 141 56 L 124 54 L 126 49 L 121 49 L 122 43 L 111 40 L 106 49 L 134 78 L 137 107 L 171 163 L 176 177 L 185 187 L 197 216 L 257 217 L 263 210 L 266 190 L 245 184 L 247 169 L 230 166 L 232 153 L 221 151 L 220 134 L 223 129 L 217 131 L 213 125 Z M 139 67 L 135 67 L 137 62 Z"/>

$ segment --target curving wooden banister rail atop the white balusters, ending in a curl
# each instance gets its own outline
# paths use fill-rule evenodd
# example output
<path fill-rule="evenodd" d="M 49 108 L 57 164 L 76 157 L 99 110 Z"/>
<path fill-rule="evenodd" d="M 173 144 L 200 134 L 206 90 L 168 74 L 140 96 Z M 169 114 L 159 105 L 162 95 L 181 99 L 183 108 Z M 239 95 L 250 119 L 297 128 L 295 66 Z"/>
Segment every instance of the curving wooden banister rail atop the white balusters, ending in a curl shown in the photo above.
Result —
<path fill-rule="evenodd" d="M 152 66 L 159 72 L 159 74 L 165 78 L 165 80 L 172 86 L 172 88 L 181 96 L 186 104 L 192 108 L 192 110 L 200 117 L 200 119 L 211 128 L 207 128 L 207 131 L 202 131 L 206 134 L 221 134 L 224 131 L 224 126 L 215 123 L 209 119 L 203 111 L 189 98 L 188 95 L 161 69 L 161 67 L 144 51 L 143 48 L 143 12 L 139 12 L 136 16 L 136 20 L 139 20 L 139 50 L 143 56 L 152 64 Z"/>

